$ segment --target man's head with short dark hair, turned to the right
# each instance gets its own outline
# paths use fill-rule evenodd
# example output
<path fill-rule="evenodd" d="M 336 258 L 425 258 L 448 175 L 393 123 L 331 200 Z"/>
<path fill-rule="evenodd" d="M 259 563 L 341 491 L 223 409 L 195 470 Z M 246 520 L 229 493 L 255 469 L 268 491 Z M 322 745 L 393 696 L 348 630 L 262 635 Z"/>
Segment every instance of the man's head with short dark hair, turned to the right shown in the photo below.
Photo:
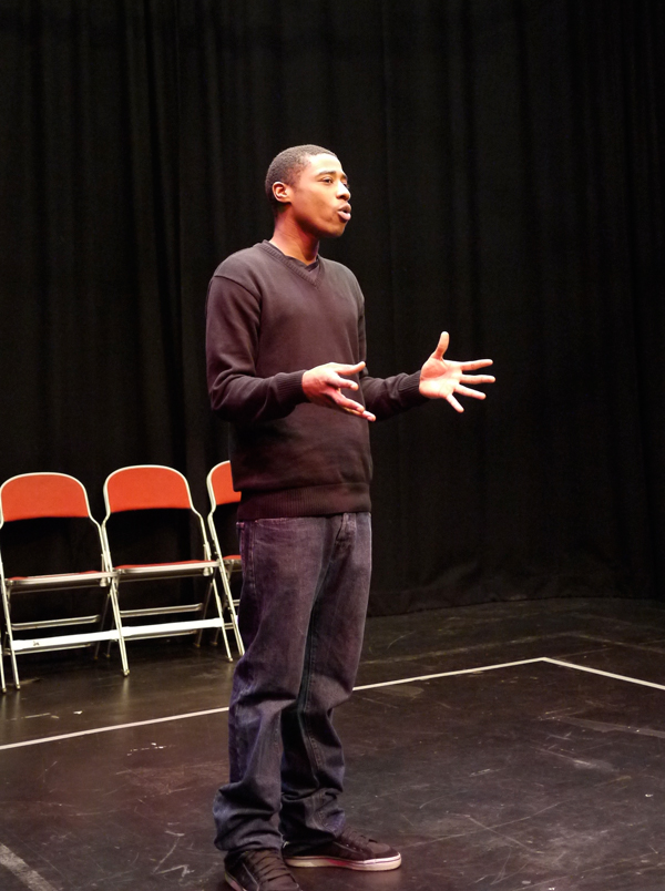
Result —
<path fill-rule="evenodd" d="M 289 214 L 317 237 L 337 237 L 350 219 L 347 177 L 335 152 L 296 145 L 268 167 L 266 196 L 277 221 Z"/>

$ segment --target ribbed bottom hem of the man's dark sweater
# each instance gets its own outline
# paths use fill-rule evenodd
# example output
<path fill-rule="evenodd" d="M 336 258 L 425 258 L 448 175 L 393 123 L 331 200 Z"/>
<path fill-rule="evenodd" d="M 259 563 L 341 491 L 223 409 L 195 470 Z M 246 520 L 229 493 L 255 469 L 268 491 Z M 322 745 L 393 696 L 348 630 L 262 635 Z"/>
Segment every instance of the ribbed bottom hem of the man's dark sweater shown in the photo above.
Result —
<path fill-rule="evenodd" d="M 237 515 L 238 520 L 265 520 L 278 516 L 329 516 L 370 510 L 367 483 L 330 483 L 277 492 L 243 491 Z"/>

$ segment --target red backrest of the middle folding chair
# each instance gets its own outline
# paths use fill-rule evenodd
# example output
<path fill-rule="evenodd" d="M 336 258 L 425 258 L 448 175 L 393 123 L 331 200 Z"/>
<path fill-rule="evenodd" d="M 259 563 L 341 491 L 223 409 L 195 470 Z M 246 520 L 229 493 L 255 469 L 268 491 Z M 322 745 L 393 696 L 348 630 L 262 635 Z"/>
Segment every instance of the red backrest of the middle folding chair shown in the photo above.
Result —
<path fill-rule="evenodd" d="M 113 471 L 104 483 L 106 516 L 120 511 L 181 508 L 194 510 L 183 474 L 161 464 L 137 464 Z"/>

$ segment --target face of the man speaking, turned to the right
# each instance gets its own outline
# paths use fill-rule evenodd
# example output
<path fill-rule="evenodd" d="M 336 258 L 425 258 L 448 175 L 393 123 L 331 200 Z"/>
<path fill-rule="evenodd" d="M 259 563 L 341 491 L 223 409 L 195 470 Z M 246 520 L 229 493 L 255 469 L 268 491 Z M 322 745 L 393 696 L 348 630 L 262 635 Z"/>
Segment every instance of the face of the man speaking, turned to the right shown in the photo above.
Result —
<path fill-rule="evenodd" d="M 351 218 L 346 173 L 335 155 L 313 155 L 295 185 L 286 185 L 294 222 L 317 238 L 338 238 Z"/>

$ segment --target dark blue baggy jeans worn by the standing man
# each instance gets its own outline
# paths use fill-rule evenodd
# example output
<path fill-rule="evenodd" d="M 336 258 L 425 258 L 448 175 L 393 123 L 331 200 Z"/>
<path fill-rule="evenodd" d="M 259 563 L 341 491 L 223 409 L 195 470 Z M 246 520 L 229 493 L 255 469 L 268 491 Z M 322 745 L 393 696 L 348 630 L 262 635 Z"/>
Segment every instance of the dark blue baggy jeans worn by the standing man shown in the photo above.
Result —
<path fill-rule="evenodd" d="M 225 851 L 316 843 L 345 822 L 332 709 L 351 694 L 371 565 L 368 513 L 238 524 L 245 655 L 228 713 L 231 778 L 213 808 Z"/>

